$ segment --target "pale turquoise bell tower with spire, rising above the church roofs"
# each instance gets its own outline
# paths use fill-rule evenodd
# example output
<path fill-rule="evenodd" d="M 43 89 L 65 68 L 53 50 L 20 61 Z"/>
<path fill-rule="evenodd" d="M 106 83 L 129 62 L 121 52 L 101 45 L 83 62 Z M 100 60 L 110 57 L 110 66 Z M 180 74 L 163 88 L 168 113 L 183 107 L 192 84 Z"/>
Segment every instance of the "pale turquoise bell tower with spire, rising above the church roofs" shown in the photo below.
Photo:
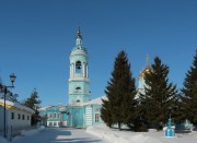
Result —
<path fill-rule="evenodd" d="M 81 106 L 89 102 L 90 81 L 88 74 L 88 51 L 82 45 L 80 28 L 76 46 L 70 53 L 69 106 Z"/>

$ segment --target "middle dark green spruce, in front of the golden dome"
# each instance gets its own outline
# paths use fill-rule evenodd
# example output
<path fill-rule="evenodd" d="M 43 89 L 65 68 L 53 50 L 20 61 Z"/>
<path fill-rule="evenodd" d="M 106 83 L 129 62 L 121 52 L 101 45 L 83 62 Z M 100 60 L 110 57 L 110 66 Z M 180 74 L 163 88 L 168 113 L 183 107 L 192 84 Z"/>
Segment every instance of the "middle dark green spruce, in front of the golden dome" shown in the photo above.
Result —
<path fill-rule="evenodd" d="M 146 72 L 144 95 L 140 95 L 140 109 L 143 119 L 153 128 L 159 128 L 160 123 L 166 122 L 170 114 L 174 114 L 177 102 L 177 90 L 167 79 L 169 67 L 163 64 L 159 57 L 154 58 L 154 63 L 150 71 Z"/>

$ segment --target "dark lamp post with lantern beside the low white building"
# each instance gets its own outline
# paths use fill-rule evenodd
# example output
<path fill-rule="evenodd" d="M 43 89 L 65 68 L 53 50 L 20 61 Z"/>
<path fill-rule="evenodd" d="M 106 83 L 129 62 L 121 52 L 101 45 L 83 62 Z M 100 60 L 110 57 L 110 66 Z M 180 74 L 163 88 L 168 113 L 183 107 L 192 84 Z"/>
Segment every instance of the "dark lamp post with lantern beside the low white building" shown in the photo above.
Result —
<path fill-rule="evenodd" d="M 14 81 L 15 81 L 15 79 L 16 79 L 16 76 L 14 75 L 14 73 L 12 73 L 11 75 L 10 75 L 10 81 L 11 81 L 11 83 L 12 83 L 12 85 L 11 86 L 5 86 L 4 85 L 4 87 L 3 87 L 3 93 L 4 93 L 4 138 L 7 138 L 7 124 L 5 124 L 5 121 L 7 121 L 7 117 L 5 117 L 5 112 L 7 112 L 7 110 L 5 110 L 5 96 L 7 96 L 7 93 L 8 93 L 8 88 L 9 87 L 11 87 L 11 88 L 13 88 L 14 87 L 14 85 L 13 85 L 13 83 L 14 83 Z"/>

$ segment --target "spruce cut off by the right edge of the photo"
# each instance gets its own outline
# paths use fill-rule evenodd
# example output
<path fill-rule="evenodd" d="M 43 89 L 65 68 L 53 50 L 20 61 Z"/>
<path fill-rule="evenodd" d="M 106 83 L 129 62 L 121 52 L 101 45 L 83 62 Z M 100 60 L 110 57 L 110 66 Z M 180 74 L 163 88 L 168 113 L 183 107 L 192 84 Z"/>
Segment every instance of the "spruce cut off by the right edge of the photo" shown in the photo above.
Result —
<path fill-rule="evenodd" d="M 182 118 L 197 126 L 197 50 L 182 88 Z"/>

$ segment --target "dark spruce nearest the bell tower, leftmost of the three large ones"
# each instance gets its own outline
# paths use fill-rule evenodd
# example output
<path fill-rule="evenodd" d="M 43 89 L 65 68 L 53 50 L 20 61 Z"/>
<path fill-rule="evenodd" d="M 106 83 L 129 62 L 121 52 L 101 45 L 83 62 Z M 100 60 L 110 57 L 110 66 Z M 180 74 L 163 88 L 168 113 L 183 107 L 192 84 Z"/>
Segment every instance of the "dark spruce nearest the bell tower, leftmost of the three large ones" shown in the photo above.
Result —
<path fill-rule="evenodd" d="M 131 124 L 135 120 L 135 79 L 130 72 L 130 63 L 125 51 L 120 51 L 115 59 L 112 79 L 107 83 L 101 110 L 102 119 L 109 126 Z"/>

